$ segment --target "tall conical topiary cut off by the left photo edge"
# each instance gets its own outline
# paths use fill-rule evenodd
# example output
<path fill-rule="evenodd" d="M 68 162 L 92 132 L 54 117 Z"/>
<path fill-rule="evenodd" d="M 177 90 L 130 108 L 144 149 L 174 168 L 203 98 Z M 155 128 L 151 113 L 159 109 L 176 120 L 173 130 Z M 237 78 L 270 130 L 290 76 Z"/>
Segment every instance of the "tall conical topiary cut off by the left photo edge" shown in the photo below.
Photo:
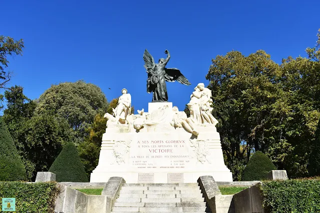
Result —
<path fill-rule="evenodd" d="M 26 180 L 23 164 L 14 140 L 0 116 L 0 181 Z"/>

